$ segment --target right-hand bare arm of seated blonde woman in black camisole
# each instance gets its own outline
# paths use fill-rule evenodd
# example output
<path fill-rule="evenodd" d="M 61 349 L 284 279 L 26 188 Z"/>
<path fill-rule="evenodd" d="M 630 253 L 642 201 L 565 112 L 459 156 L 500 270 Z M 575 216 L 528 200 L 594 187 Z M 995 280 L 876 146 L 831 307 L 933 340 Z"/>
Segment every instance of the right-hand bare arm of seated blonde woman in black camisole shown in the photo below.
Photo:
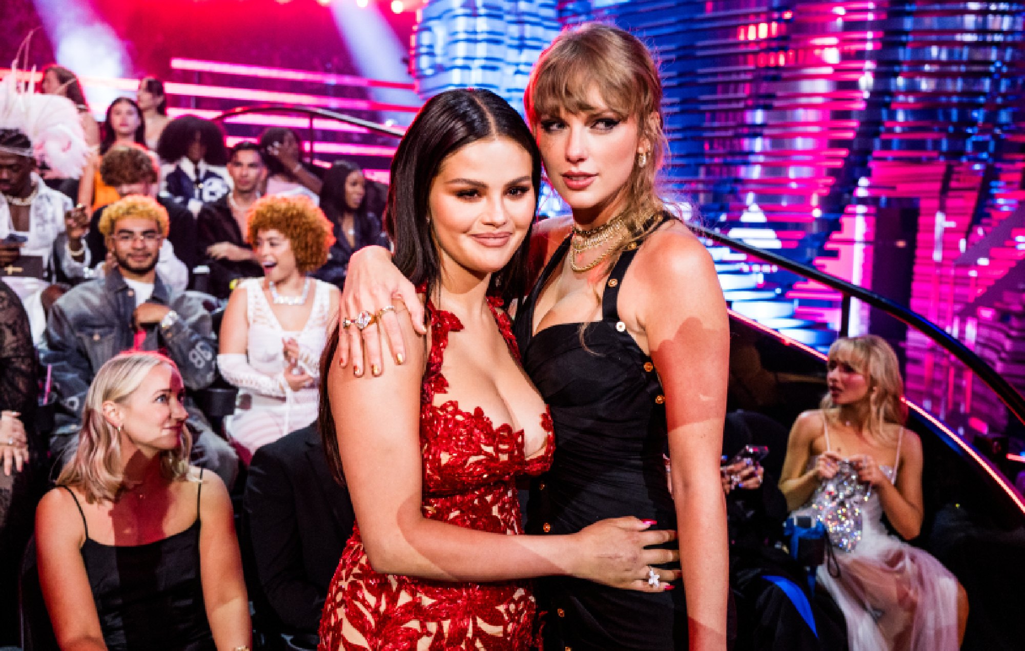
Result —
<path fill-rule="evenodd" d="M 218 649 L 249 646 L 252 624 L 242 578 L 242 558 L 232 519 L 232 502 L 223 482 L 203 474 L 200 494 L 199 565 L 203 603 Z"/>

